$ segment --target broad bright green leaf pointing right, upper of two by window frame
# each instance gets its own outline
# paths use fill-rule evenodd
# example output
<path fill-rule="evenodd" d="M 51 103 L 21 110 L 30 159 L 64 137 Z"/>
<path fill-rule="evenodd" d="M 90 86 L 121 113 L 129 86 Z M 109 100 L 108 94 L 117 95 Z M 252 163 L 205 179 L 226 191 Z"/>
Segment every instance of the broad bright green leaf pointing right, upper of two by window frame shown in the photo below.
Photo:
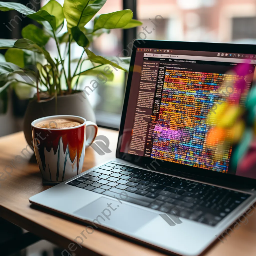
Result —
<path fill-rule="evenodd" d="M 132 19 L 133 12 L 121 10 L 113 13 L 101 14 L 94 24 L 94 30 L 100 28 L 122 28 L 125 27 Z"/>

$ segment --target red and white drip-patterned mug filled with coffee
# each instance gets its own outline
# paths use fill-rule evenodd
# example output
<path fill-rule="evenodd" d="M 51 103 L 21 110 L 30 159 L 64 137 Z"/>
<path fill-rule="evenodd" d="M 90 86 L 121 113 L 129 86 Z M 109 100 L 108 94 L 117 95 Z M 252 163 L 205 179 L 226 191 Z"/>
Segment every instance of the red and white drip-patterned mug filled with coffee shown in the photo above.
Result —
<path fill-rule="evenodd" d="M 81 124 L 56 129 L 54 123 L 57 123 L 54 120 L 57 119 L 68 119 Z M 45 123 L 47 128 L 37 127 L 39 123 Z M 94 129 L 86 140 L 86 129 L 89 126 Z M 35 155 L 43 179 L 62 182 L 82 172 L 86 146 L 94 141 L 98 126 L 80 116 L 53 115 L 34 120 L 31 129 Z"/>

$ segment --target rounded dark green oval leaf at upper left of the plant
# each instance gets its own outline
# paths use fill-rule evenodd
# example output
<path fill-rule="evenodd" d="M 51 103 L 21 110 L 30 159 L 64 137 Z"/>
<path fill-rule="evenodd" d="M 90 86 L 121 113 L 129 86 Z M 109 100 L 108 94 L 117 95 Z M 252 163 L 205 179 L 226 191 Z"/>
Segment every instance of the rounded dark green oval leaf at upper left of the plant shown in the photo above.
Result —
<path fill-rule="evenodd" d="M 48 33 L 34 24 L 29 24 L 24 27 L 21 31 L 21 34 L 23 38 L 29 39 L 40 46 L 45 45 L 50 38 Z"/>

